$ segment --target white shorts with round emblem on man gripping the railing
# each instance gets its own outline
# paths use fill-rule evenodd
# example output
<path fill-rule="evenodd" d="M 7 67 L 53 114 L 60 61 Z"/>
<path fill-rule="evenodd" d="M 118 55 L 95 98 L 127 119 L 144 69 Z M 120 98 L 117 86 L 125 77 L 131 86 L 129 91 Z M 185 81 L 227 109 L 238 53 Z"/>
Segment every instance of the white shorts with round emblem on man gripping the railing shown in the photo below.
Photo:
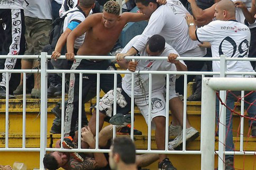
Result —
<path fill-rule="evenodd" d="M 164 94 L 161 92 L 152 93 L 151 97 L 151 121 L 154 117 L 164 116 L 166 117 L 166 100 L 164 99 Z M 134 103 L 140 109 L 141 114 L 145 118 L 146 123 L 149 121 L 149 97 L 145 99 L 144 97 L 135 98 Z M 169 113 L 168 113 L 169 115 Z M 153 124 L 152 124 L 153 125 Z"/>

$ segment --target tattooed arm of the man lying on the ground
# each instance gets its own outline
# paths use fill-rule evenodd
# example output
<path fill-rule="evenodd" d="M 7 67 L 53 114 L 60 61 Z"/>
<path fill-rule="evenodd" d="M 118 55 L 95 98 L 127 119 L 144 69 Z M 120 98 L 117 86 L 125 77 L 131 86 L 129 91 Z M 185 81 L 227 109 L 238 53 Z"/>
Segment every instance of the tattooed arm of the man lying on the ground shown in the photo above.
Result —
<path fill-rule="evenodd" d="M 70 170 L 89 170 L 99 168 L 97 162 L 92 157 L 85 157 L 84 162 L 78 162 L 73 157 L 69 161 Z"/>

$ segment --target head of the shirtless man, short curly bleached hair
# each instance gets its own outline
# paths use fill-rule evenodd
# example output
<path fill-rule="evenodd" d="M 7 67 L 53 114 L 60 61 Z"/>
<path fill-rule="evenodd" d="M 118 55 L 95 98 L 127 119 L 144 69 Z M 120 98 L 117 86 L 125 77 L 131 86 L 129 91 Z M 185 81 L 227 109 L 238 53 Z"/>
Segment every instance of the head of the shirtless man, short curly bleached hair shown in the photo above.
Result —
<path fill-rule="evenodd" d="M 115 26 L 120 19 L 120 5 L 115 1 L 107 1 L 103 7 L 103 24 L 106 28 Z"/>

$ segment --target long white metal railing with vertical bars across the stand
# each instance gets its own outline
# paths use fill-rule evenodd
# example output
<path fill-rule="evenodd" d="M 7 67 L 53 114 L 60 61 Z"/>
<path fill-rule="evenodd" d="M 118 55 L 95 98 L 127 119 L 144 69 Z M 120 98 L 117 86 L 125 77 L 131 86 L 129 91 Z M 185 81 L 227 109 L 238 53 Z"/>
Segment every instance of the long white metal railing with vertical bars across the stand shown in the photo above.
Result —
<path fill-rule="evenodd" d="M 38 58 L 39 56 L 10 56 L 10 55 L 5 55 L 5 56 L 0 56 L 0 58 Z M 62 96 L 61 96 L 61 102 L 62 105 L 61 107 L 64 108 L 65 105 L 65 74 L 67 73 L 76 73 L 79 74 L 79 90 L 81 91 L 81 85 L 82 85 L 82 75 L 84 73 L 92 73 L 92 74 L 97 74 L 97 105 L 99 103 L 99 75 L 100 74 L 114 74 L 114 109 L 113 112 L 114 114 L 116 114 L 116 82 L 117 82 L 117 74 L 132 74 L 132 103 L 131 103 L 131 117 L 132 120 L 134 119 L 134 74 L 138 74 L 138 71 L 136 72 L 130 72 L 130 71 L 103 71 L 103 70 L 51 70 L 51 69 L 47 69 L 47 59 L 50 58 L 49 55 L 47 55 L 47 53 L 41 53 L 41 69 L 38 70 L 28 70 L 28 69 L 19 69 L 19 70 L 5 70 L 5 69 L 0 69 L 0 73 L 24 73 L 23 76 L 23 128 L 22 128 L 22 148 L 10 148 L 8 147 L 8 79 L 6 82 L 6 129 L 5 129 L 5 148 L 0 148 L 1 152 L 40 152 L 40 169 L 43 169 L 43 164 L 42 164 L 42 159 L 44 157 L 44 154 L 46 151 L 61 151 L 61 152 L 108 152 L 109 149 L 99 149 L 98 148 L 98 133 L 99 133 L 99 128 L 98 126 L 96 126 L 96 148 L 95 149 L 82 149 L 80 146 L 80 139 L 81 136 L 78 135 L 78 149 L 63 149 L 63 147 L 61 146 L 61 148 L 57 149 L 57 148 L 47 148 L 47 74 L 48 73 L 61 73 L 62 74 Z M 60 59 L 65 58 L 64 56 L 61 56 Z M 76 56 L 76 59 L 115 59 L 114 56 Z M 143 56 L 131 56 L 131 57 L 125 57 L 126 59 L 164 59 L 167 60 L 167 57 L 143 57 Z M 179 75 L 184 75 L 184 82 L 185 84 L 187 83 L 187 76 L 188 75 L 202 75 L 202 77 L 204 78 L 205 75 L 221 75 L 221 76 L 225 76 L 225 75 L 256 75 L 256 73 L 252 72 L 252 73 L 248 73 L 248 72 L 226 72 L 225 69 L 225 63 L 227 61 L 233 61 L 233 60 L 237 60 L 237 61 L 256 61 L 256 58 L 225 58 L 224 56 L 221 56 L 221 58 L 207 58 L 207 57 L 179 57 L 179 60 L 186 60 L 186 61 L 221 61 L 221 72 L 170 72 L 170 71 L 140 71 L 140 74 L 149 74 L 149 103 L 151 103 L 151 88 L 152 88 L 152 74 L 165 74 L 167 76 L 167 80 L 169 79 L 169 75 L 173 75 L 173 74 L 179 74 Z M 26 148 L 25 147 L 25 105 L 26 105 L 26 91 L 25 91 L 25 87 L 26 87 L 26 79 L 25 79 L 25 74 L 26 73 L 41 73 L 41 107 L 40 107 L 40 148 Z M 7 76 L 8 77 L 8 76 Z M 167 87 L 169 86 L 169 81 L 166 82 L 167 83 Z M 203 87 L 203 91 L 205 90 L 205 88 Z M 212 91 L 211 91 L 212 92 Z M 205 94 L 205 93 L 202 93 Z M 186 129 L 186 110 L 187 110 L 187 102 L 186 102 L 186 98 L 187 98 L 187 86 L 184 87 L 184 120 L 183 120 L 183 124 L 184 124 L 184 130 Z M 223 96 L 222 96 L 223 97 Z M 166 92 L 166 107 L 167 107 L 167 111 L 166 111 L 166 138 L 169 137 L 168 134 L 168 124 L 169 124 L 169 88 L 167 88 L 167 92 Z M 215 102 L 215 100 L 214 100 Z M 205 104 L 206 103 L 206 104 Z M 166 140 L 165 143 L 165 149 L 164 151 L 157 151 L 157 150 L 152 150 L 151 149 L 151 116 L 149 114 L 149 121 L 148 121 L 148 149 L 147 150 L 137 150 L 137 153 L 157 153 L 157 154 L 202 154 L 202 169 L 204 167 L 205 164 L 207 164 L 207 162 L 203 163 L 206 158 L 209 158 L 209 155 L 214 155 L 214 149 L 213 152 L 209 150 L 209 144 L 213 143 L 214 146 L 214 135 L 211 136 L 209 134 L 212 134 L 212 132 L 214 132 L 215 130 L 215 122 L 212 122 L 213 126 L 209 126 L 208 122 L 205 124 L 205 120 L 209 119 L 208 114 L 207 116 L 204 114 L 204 109 L 205 105 L 209 104 L 209 103 L 213 103 L 213 101 L 208 101 L 205 102 L 204 99 L 202 99 L 202 124 L 201 127 L 205 127 L 206 125 L 210 128 L 208 129 L 204 129 L 201 128 L 201 146 L 200 146 L 200 151 L 186 151 L 186 138 L 185 138 L 185 132 L 183 131 L 183 147 L 182 147 L 182 151 L 168 151 L 168 140 Z M 79 112 L 78 112 L 78 127 L 81 128 L 81 93 L 79 94 Z M 151 111 L 151 105 L 149 105 L 149 112 Z M 241 105 L 241 114 L 243 114 L 243 109 L 244 109 L 244 104 L 242 103 Z M 209 110 L 209 108 L 207 108 L 207 110 Z M 215 108 L 214 108 L 215 111 Z M 213 112 L 213 111 L 212 111 Z M 62 117 L 61 117 L 61 141 L 63 141 L 63 122 L 64 122 L 64 109 L 62 109 Z M 99 122 L 99 110 L 98 107 L 96 109 L 96 124 L 98 125 Z M 223 114 L 222 114 L 223 115 Z M 213 115 L 211 115 L 213 116 Z M 211 117 L 210 116 L 210 117 Z M 215 113 L 214 113 L 215 116 Z M 220 121 L 221 122 L 225 122 L 225 117 L 220 117 Z M 241 118 L 241 121 L 243 123 L 244 119 Z M 134 127 L 134 123 L 132 121 L 131 123 L 131 129 L 133 129 Z M 79 129 L 79 133 L 80 133 L 80 128 Z M 209 130 L 210 129 L 210 130 Z M 208 131 L 211 131 L 211 133 L 208 133 Z M 242 128 L 241 128 L 241 132 L 242 132 Z M 221 128 L 220 127 L 220 142 L 223 142 L 224 138 L 221 138 L 221 136 L 223 136 L 223 134 L 225 134 L 225 128 Z M 114 128 L 114 132 L 113 132 L 113 137 L 115 137 L 115 128 Z M 133 139 L 133 131 L 131 132 L 131 138 Z M 244 152 L 243 151 L 243 138 L 241 135 L 241 146 L 240 146 L 240 150 L 241 152 L 225 152 L 225 148 L 219 149 L 218 152 L 216 153 L 220 153 L 222 155 L 225 154 L 253 154 L 254 152 Z M 224 142 L 223 142 L 224 143 Z M 211 157 L 212 158 L 212 157 Z M 208 160 L 208 162 L 211 162 L 211 160 Z M 208 168 L 209 169 L 209 168 Z"/>

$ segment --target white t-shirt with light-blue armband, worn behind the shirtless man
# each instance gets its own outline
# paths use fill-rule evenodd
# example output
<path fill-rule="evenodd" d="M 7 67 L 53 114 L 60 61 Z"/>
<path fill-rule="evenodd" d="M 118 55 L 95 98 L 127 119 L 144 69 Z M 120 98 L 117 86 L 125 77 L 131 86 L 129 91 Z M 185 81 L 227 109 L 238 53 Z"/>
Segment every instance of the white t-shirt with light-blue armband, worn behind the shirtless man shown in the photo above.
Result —
<path fill-rule="evenodd" d="M 64 15 L 66 15 L 68 13 L 64 20 L 64 23 L 63 23 L 63 32 L 66 31 L 67 26 L 70 22 L 76 21 L 76 22 L 81 23 L 85 20 L 84 13 L 81 13 L 76 10 L 80 10 L 80 9 L 78 7 L 75 7 L 74 9 L 70 9 L 69 11 L 63 13 Z M 76 12 L 72 12 L 72 11 L 76 11 Z M 79 49 L 79 47 L 84 43 L 84 39 L 85 39 L 85 33 L 83 35 L 79 36 L 78 38 L 76 38 L 74 48 Z"/>

